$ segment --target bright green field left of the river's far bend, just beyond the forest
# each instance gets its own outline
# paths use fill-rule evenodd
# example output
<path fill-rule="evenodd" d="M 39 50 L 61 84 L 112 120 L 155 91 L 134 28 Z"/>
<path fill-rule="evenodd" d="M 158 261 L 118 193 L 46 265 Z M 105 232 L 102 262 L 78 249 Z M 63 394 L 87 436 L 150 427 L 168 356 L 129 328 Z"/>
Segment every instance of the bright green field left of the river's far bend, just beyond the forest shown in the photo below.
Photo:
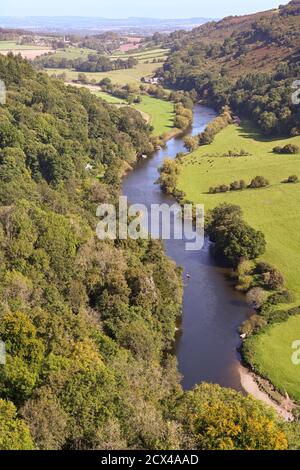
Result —
<path fill-rule="evenodd" d="M 98 92 L 96 95 L 110 104 L 126 104 L 126 101 L 107 93 Z M 154 128 L 154 135 L 160 136 L 174 128 L 174 105 L 170 101 L 158 100 L 145 95 L 142 97 L 142 102 L 133 105 L 133 107 L 138 109 L 146 120 L 149 117 L 149 121 Z"/>

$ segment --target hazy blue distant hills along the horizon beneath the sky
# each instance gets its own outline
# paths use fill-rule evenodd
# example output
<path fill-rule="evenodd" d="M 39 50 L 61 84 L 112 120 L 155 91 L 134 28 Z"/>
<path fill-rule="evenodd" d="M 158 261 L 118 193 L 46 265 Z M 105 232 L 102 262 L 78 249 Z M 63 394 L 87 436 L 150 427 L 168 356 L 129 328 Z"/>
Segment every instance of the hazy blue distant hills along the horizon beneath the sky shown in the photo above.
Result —
<path fill-rule="evenodd" d="M 31 31 L 52 33 L 84 33 L 95 34 L 98 31 L 122 31 L 123 33 L 145 33 L 176 31 L 192 28 L 211 21 L 208 18 L 157 19 L 157 18 L 90 18 L 90 17 L 0 17 L 0 27 L 18 28 Z"/>

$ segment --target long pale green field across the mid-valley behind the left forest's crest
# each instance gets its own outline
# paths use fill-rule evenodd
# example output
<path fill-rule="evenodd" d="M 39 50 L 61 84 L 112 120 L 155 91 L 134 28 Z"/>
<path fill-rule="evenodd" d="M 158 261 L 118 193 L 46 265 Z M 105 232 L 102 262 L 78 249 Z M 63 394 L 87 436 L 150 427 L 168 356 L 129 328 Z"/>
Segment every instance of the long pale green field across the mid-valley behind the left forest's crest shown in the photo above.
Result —
<path fill-rule="evenodd" d="M 152 76 L 159 64 L 138 64 L 133 69 L 127 70 L 113 70 L 111 72 L 98 72 L 98 73 L 86 73 L 89 80 L 96 80 L 100 82 L 103 78 L 110 78 L 113 83 L 126 84 L 126 83 L 139 83 L 142 77 Z M 65 73 L 67 80 L 76 80 L 78 72 L 69 69 L 45 69 L 45 71 L 52 75 L 59 75 Z"/>

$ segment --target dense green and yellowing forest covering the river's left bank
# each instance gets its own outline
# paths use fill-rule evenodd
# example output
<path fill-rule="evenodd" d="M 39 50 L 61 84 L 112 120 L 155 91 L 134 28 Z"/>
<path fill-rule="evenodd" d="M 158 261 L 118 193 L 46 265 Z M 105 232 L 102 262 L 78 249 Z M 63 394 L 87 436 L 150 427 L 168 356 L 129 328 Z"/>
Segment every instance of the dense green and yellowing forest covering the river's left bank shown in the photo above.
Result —
<path fill-rule="evenodd" d="M 96 207 L 150 153 L 131 108 L 0 57 L 0 449 L 285 449 L 250 397 L 183 392 L 181 273 L 158 241 L 100 241 Z"/>

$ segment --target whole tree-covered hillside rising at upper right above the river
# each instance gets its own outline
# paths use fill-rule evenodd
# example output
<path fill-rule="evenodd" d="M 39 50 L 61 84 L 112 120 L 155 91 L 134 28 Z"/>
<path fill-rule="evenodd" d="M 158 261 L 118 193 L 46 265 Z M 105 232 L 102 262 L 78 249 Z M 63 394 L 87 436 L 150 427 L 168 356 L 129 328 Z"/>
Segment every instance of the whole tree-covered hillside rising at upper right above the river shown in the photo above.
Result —
<path fill-rule="evenodd" d="M 166 86 L 196 90 L 221 109 L 228 105 L 266 134 L 299 135 L 292 84 L 300 76 L 300 2 L 230 17 L 165 39 L 172 52 L 159 72 Z"/>

